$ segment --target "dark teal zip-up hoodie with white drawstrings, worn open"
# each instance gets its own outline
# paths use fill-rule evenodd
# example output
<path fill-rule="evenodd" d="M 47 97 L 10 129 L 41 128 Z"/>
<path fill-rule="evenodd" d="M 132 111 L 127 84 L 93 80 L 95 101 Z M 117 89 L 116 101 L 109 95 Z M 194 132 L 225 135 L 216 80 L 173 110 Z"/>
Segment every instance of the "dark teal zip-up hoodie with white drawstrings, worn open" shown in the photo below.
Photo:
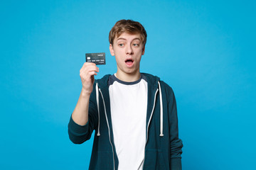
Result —
<path fill-rule="evenodd" d="M 143 169 L 181 169 L 183 145 L 178 138 L 174 91 L 164 81 L 160 81 L 159 77 L 154 77 L 151 74 L 144 74 L 144 76 L 148 83 L 148 105 Z M 110 113 L 110 95 L 107 83 L 109 77 L 110 74 L 95 80 L 90 96 L 87 124 L 78 125 L 72 118 L 68 124 L 70 140 L 75 144 L 89 140 L 92 131 L 95 130 L 89 169 L 107 170 L 118 167 Z"/>

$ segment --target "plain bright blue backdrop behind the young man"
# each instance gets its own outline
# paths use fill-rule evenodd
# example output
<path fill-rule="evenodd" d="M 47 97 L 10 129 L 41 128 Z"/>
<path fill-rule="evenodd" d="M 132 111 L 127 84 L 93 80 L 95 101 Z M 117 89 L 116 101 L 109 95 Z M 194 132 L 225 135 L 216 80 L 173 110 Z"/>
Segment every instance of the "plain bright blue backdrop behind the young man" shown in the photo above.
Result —
<path fill-rule="evenodd" d="M 183 169 L 256 169 L 255 1 L 1 1 L 0 169 L 87 169 L 68 121 L 85 52 L 122 18 L 148 33 L 142 72 L 176 94 Z"/>

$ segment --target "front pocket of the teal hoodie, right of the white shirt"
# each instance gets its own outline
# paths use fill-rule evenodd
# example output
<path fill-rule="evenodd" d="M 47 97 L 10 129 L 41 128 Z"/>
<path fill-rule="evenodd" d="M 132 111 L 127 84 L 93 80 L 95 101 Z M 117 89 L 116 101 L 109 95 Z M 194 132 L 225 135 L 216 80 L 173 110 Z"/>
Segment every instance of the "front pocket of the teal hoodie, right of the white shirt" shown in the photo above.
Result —
<path fill-rule="evenodd" d="M 160 149 L 146 149 L 144 159 L 144 170 L 146 169 L 155 169 L 155 170 L 168 170 L 169 166 L 167 166 L 166 160 L 164 159 L 163 152 Z"/>

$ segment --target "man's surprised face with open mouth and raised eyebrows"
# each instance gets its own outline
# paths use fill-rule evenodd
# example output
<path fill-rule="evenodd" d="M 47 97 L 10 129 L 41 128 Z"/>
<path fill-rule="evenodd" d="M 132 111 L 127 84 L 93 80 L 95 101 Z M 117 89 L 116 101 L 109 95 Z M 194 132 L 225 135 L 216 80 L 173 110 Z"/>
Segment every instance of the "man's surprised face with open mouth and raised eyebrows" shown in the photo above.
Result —
<path fill-rule="evenodd" d="M 117 74 L 138 74 L 144 51 L 139 34 L 122 33 L 118 38 L 114 38 L 113 45 L 110 45 L 110 53 L 117 61 Z"/>

